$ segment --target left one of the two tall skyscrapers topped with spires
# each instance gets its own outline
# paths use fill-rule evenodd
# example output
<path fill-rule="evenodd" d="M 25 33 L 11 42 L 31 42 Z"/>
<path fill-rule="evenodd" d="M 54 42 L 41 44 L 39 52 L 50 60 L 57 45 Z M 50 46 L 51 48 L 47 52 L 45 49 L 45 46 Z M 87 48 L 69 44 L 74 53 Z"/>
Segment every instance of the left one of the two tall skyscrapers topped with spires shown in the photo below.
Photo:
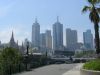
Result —
<path fill-rule="evenodd" d="M 32 45 L 33 47 L 40 47 L 40 25 L 37 19 L 32 25 Z"/>

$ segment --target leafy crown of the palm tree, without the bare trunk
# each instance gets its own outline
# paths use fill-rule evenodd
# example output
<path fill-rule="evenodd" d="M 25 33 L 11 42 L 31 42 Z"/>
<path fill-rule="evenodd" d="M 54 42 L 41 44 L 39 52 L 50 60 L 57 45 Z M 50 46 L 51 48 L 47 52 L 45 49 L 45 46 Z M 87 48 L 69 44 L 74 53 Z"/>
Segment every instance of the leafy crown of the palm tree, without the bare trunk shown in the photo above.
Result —
<path fill-rule="evenodd" d="M 90 3 L 89 6 L 84 6 L 84 8 L 82 9 L 82 12 L 87 12 L 89 11 L 89 18 L 91 20 L 91 22 L 93 23 L 99 23 L 100 22 L 100 17 L 99 17 L 99 13 L 100 13 L 100 7 L 98 7 L 100 0 L 88 0 L 88 3 Z"/>

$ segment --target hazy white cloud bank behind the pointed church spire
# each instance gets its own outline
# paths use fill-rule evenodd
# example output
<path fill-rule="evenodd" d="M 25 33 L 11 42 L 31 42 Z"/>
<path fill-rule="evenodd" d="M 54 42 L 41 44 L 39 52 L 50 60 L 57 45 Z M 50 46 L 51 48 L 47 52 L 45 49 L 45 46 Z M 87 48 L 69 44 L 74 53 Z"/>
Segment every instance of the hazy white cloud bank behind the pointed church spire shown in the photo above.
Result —
<path fill-rule="evenodd" d="M 24 25 L 14 25 L 6 27 L 5 29 L 0 30 L 0 40 L 2 43 L 8 43 L 11 38 L 12 31 L 14 32 L 14 39 L 15 42 L 18 40 L 19 44 L 21 45 L 22 41 L 25 38 L 30 38 L 30 31 L 23 27 Z"/>

